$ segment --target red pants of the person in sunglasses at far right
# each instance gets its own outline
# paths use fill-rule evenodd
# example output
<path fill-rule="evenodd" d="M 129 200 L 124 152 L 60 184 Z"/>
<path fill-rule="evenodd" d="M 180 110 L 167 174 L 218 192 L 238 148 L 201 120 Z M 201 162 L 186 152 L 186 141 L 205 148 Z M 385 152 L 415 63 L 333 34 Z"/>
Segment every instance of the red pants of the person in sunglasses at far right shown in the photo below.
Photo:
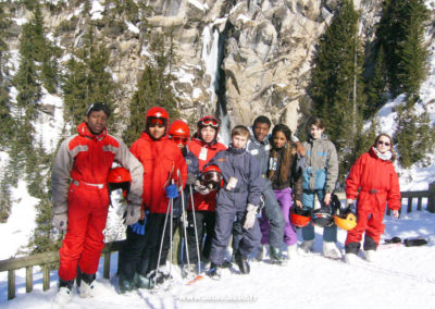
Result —
<path fill-rule="evenodd" d="M 360 191 L 357 203 L 358 222 L 357 226 L 347 232 L 346 245 L 349 243 L 360 243 L 362 234 L 372 237 L 380 244 L 381 235 L 384 234 L 385 225 L 382 223 L 386 209 L 387 194 L 370 194 Z"/>

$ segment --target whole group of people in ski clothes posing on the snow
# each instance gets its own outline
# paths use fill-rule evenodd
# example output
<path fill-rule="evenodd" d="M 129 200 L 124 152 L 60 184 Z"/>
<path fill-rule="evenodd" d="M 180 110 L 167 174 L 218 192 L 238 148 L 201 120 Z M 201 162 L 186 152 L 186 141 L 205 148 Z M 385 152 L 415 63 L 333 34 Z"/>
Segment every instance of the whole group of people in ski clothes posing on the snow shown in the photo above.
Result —
<path fill-rule="evenodd" d="M 80 297 L 94 294 L 110 203 L 108 176 L 126 184 L 128 201 L 126 240 L 119 254 L 120 293 L 152 288 L 167 277 L 163 265 L 175 230 L 169 224 L 186 226 L 185 275 L 200 273 L 210 262 L 207 273 L 220 279 L 221 269 L 231 263 L 226 256 L 231 237 L 232 259 L 243 274 L 250 272 L 249 258 L 256 251 L 258 260 L 269 251 L 271 263 L 283 264 L 298 251 L 312 250 L 314 226 L 301 227 L 303 239 L 297 249 L 290 213 L 296 208 L 313 209 L 315 196 L 323 209 L 331 208 L 338 159 L 321 119 L 309 123 L 308 140 L 300 143 L 285 124 L 276 124 L 270 135 L 272 123 L 261 115 L 251 127 L 235 126 L 226 147 L 217 140 L 216 118 L 201 118 L 190 139 L 185 122 L 171 124 L 167 112 L 154 107 L 146 114 L 141 136 L 128 149 L 108 134 L 109 116 L 104 103 L 91 104 L 77 134 L 62 143 L 54 159 L 53 224 L 66 232 L 60 249 L 58 302 L 70 301 L 74 280 Z M 349 173 L 347 202 L 358 199 L 358 222 L 345 244 L 348 262 L 358 259 L 364 233 L 365 257 L 370 259 L 376 249 L 387 202 L 398 215 L 394 158 L 391 138 L 381 134 Z M 114 162 L 127 173 L 110 175 L 120 170 L 113 169 Z M 336 242 L 337 226 L 328 224 L 323 228 L 325 257 L 341 258 Z"/>

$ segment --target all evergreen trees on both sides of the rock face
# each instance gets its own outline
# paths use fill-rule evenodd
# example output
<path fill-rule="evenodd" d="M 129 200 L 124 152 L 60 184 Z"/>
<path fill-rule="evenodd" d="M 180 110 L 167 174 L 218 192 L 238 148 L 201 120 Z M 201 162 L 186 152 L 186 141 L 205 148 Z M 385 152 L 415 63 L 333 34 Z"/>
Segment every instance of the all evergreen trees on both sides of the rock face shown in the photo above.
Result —
<path fill-rule="evenodd" d="M 312 101 L 311 115 L 324 120 L 325 133 L 339 152 L 340 181 L 381 133 L 375 116 L 378 110 L 399 95 L 406 98 L 394 111 L 399 162 L 403 168 L 426 164 L 425 153 L 434 148 L 435 134 L 419 98 L 430 57 L 424 42 L 430 12 L 424 1 L 384 0 L 370 38 L 362 32 L 361 12 L 353 1 L 336 2 L 315 48 L 307 92 Z M 38 132 L 44 115 L 54 118 L 44 106 L 46 96 L 63 102 L 63 127 L 53 148 L 76 133 L 95 102 L 110 107 L 109 132 L 128 146 L 142 133 L 151 107 L 165 108 L 171 121 L 181 116 L 183 95 L 174 86 L 179 69 L 174 29 L 152 28 L 147 20 L 152 12 L 144 1 L 107 0 L 101 5 L 102 17 L 92 20 L 89 0 L 0 1 L 0 151 L 8 154 L 0 170 L 0 223 L 11 213 L 11 188 L 25 181 L 28 193 L 39 200 L 37 227 L 29 243 L 33 252 L 55 249 L 62 238 L 51 225 L 55 150 L 46 149 L 44 134 Z M 78 8 L 79 15 L 72 14 L 55 29 L 47 28 L 45 21 L 52 17 L 51 13 L 65 10 L 70 14 Z M 18 25 L 11 15 L 20 10 L 26 12 L 26 18 Z M 138 32 L 127 32 L 128 25 Z M 127 34 L 139 41 L 140 50 L 132 58 L 144 65 L 136 85 L 125 96 L 116 81 L 121 60 L 114 55 L 117 47 L 113 42 L 125 42 Z M 16 44 L 15 57 L 11 41 Z M 197 120 L 196 114 L 184 116 Z"/>

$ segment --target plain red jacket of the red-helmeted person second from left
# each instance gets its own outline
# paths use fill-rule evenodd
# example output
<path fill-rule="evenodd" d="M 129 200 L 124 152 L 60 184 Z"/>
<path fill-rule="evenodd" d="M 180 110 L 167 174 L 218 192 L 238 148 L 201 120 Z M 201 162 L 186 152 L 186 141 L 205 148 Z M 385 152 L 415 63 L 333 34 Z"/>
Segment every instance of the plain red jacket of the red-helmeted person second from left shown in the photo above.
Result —
<path fill-rule="evenodd" d="M 130 151 L 144 165 L 144 206 L 152 213 L 166 213 L 165 187 L 171 180 L 178 184 L 177 170 L 183 187 L 186 183 L 187 165 L 182 151 L 167 136 L 152 139 L 145 132 L 133 143 Z"/>

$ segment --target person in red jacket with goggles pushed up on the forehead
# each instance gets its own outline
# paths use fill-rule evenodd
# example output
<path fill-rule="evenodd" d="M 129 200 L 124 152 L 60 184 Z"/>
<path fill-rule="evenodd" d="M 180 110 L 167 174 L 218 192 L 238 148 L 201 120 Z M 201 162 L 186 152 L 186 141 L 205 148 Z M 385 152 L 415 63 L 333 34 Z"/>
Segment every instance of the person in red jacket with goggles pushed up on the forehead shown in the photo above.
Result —
<path fill-rule="evenodd" d="M 197 133 L 194 135 L 191 140 L 187 144 L 187 148 L 190 152 L 198 158 L 199 171 L 202 171 L 203 166 L 221 150 L 225 150 L 226 146 L 217 141 L 217 133 L 220 128 L 220 122 L 216 118 L 208 115 L 199 120 L 197 124 Z M 207 195 L 200 193 L 194 193 L 194 206 L 195 206 L 195 219 L 196 226 L 198 228 L 198 240 L 195 233 L 194 215 L 191 199 L 189 200 L 189 211 L 187 213 L 187 244 L 188 255 L 190 264 L 194 268 L 198 263 L 197 242 L 199 242 L 199 249 L 204 235 L 206 240 L 203 248 L 200 254 L 204 259 L 209 259 L 211 251 L 211 242 L 214 236 L 214 224 L 215 224 L 215 207 L 216 207 L 216 191 L 212 190 Z M 184 260 L 187 260 L 186 252 Z M 185 270 L 185 273 L 196 271 Z"/>

